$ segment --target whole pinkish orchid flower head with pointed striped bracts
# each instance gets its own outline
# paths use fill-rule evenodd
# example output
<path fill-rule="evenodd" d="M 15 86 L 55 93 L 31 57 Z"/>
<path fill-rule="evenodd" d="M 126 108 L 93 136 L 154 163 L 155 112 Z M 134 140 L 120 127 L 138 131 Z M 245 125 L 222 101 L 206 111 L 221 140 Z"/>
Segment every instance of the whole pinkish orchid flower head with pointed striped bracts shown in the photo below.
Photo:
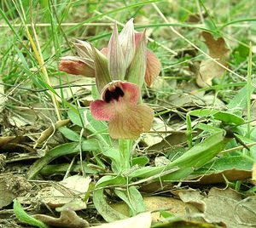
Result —
<path fill-rule="evenodd" d="M 76 40 L 79 57 L 65 57 L 60 71 L 96 77 L 101 100 L 90 104 L 96 120 L 108 121 L 113 139 L 137 139 L 150 129 L 154 111 L 141 103 L 141 88 L 148 86 L 160 73 L 160 61 L 147 49 L 145 31 L 135 33 L 129 20 L 118 34 L 116 24 L 108 47 L 101 51 L 84 41 Z"/>

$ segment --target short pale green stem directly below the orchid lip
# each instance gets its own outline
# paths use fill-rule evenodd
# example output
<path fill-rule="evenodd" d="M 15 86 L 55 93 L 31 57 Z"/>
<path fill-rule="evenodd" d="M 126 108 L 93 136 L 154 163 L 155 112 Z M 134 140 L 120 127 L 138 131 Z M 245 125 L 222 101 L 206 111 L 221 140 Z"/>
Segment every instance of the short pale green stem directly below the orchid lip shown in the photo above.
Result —
<path fill-rule="evenodd" d="M 131 168 L 131 145 L 132 140 L 119 140 L 119 152 L 121 155 L 121 168 L 126 170 Z"/>

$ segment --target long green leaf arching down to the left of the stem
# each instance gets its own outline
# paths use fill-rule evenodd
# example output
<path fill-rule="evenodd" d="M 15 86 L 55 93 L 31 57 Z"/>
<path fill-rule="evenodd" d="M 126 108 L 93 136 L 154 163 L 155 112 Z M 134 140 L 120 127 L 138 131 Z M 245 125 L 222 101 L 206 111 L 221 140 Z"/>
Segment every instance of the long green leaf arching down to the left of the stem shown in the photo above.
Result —
<path fill-rule="evenodd" d="M 32 164 L 27 172 L 27 178 L 32 179 L 38 171 L 40 171 L 49 162 L 53 161 L 57 157 L 64 155 L 69 155 L 73 153 L 78 153 L 80 150 L 83 151 L 97 151 L 99 150 L 99 145 L 96 140 L 84 140 L 82 145 L 79 142 L 72 142 L 67 144 L 58 145 L 55 148 L 49 150 L 44 157 L 39 158 L 36 162 Z"/>

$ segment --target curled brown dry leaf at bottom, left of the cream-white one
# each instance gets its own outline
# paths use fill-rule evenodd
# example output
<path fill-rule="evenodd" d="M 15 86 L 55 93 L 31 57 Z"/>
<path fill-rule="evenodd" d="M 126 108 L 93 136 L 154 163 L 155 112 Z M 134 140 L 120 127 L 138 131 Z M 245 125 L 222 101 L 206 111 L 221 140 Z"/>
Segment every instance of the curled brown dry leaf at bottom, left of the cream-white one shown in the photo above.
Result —
<path fill-rule="evenodd" d="M 45 214 L 33 215 L 35 219 L 38 219 L 46 225 L 52 225 L 57 227 L 72 227 L 72 228 L 84 228 L 89 227 L 89 223 L 80 218 L 74 211 L 61 211 L 60 218 L 54 218 Z"/>

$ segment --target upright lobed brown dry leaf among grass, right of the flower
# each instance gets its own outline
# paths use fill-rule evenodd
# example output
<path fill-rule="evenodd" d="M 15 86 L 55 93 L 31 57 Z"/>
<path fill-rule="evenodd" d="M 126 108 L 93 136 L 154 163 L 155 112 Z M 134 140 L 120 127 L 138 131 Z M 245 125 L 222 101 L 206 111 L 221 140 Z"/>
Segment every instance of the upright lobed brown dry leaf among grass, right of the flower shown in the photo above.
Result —
<path fill-rule="evenodd" d="M 223 37 L 214 39 L 211 33 L 203 31 L 202 36 L 205 39 L 209 55 L 214 60 L 218 60 L 224 66 L 228 66 L 227 58 L 229 55 L 229 49 L 226 48 L 226 44 Z M 213 60 L 202 60 L 199 67 L 199 71 L 196 74 L 196 83 L 199 87 L 207 87 L 212 85 L 212 79 L 214 77 L 222 77 L 225 69 L 219 66 Z"/>

